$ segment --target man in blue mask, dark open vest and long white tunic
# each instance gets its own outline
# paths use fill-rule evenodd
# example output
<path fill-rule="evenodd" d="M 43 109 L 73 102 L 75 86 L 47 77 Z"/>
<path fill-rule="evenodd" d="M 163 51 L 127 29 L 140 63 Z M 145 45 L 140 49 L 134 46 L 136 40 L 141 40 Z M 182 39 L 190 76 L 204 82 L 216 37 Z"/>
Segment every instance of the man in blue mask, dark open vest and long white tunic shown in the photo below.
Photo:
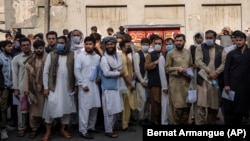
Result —
<path fill-rule="evenodd" d="M 74 78 L 74 52 L 66 46 L 67 39 L 61 36 L 57 39 L 56 49 L 48 54 L 43 71 L 44 104 L 43 117 L 46 122 L 46 134 L 43 141 L 48 141 L 53 119 L 61 119 L 61 133 L 64 138 L 71 138 L 65 131 L 69 124 L 69 114 L 76 112 L 74 94 L 76 92 Z"/>

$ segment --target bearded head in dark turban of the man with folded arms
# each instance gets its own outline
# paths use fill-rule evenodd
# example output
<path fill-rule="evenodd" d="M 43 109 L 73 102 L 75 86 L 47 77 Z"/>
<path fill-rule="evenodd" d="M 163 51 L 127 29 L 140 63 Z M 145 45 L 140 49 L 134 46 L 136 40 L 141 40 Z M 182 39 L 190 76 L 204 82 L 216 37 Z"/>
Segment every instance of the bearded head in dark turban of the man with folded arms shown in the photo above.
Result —
<path fill-rule="evenodd" d="M 108 36 L 103 39 L 103 43 L 105 46 L 105 51 L 109 55 L 113 55 L 116 52 L 116 43 L 117 40 L 113 36 Z"/>

